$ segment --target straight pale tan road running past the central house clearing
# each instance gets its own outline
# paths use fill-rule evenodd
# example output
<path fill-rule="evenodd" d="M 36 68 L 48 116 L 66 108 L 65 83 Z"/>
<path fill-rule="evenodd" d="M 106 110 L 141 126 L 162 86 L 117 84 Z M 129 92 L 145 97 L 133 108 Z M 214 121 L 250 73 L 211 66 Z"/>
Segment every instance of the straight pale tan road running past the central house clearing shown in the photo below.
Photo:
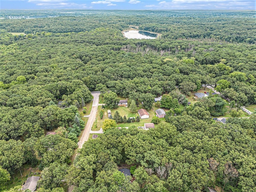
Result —
<path fill-rule="evenodd" d="M 90 130 L 92 128 L 92 124 L 96 118 L 96 113 L 98 109 L 98 104 L 99 104 L 99 96 L 100 92 L 92 92 L 93 96 L 93 102 L 92 102 L 92 110 L 90 113 L 90 116 L 88 118 L 88 122 L 84 128 L 84 132 L 82 134 L 82 137 L 80 138 L 80 141 L 78 142 L 78 148 L 82 148 L 84 142 L 86 142 L 89 138 Z"/>

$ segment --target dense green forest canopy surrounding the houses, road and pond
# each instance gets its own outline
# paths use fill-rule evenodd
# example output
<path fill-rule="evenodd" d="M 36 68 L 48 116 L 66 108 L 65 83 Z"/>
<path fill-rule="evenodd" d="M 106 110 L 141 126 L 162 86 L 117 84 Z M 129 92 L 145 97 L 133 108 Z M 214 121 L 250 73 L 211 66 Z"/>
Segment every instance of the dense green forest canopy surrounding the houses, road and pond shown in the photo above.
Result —
<path fill-rule="evenodd" d="M 74 192 L 256 191 L 256 116 L 212 120 L 256 102 L 255 11 L 0 16 L 0 191 L 18 191 L 11 183 L 26 166 L 38 168 L 39 192 L 64 192 L 64 185 Z M 160 35 L 127 39 L 129 26 Z M 202 85 L 234 105 L 220 96 L 181 102 Z M 184 106 L 164 107 L 165 122 L 148 131 L 106 130 L 73 163 L 85 124 L 78 110 L 95 90 L 149 109 L 145 100 L 163 94 Z M 48 130 L 56 134 L 45 136 Z M 120 164 L 135 169 L 133 182 L 118 172 Z"/>

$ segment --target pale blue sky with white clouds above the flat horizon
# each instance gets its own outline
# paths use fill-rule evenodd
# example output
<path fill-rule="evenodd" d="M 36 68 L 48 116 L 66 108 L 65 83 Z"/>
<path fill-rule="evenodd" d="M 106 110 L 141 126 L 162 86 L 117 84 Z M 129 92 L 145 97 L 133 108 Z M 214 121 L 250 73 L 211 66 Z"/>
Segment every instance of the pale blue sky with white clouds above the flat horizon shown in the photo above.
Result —
<path fill-rule="evenodd" d="M 255 10 L 255 0 L 0 0 L 1 9 Z"/>

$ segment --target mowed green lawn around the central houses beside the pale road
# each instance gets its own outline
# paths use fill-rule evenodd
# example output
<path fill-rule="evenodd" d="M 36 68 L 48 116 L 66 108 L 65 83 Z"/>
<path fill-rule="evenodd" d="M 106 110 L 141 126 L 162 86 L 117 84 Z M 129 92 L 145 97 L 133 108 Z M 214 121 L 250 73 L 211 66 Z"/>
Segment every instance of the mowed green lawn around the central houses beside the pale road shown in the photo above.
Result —
<path fill-rule="evenodd" d="M 108 119 L 108 110 L 111 110 L 111 114 L 114 117 L 114 114 L 116 111 L 119 112 L 120 116 L 124 117 L 124 115 L 126 116 L 126 118 L 128 119 L 129 117 L 134 117 L 136 119 L 137 116 L 139 116 L 138 114 L 138 110 L 140 108 L 137 108 L 137 111 L 135 113 L 130 112 L 128 107 L 118 107 L 116 109 L 109 109 L 109 108 L 105 108 L 104 110 L 104 115 L 103 118 L 100 119 L 100 110 L 101 110 L 101 106 L 98 106 L 98 111 L 96 114 L 96 120 L 94 122 L 94 124 L 92 125 L 92 130 L 96 131 L 96 130 L 100 130 L 100 128 L 103 125 L 103 122 L 105 119 Z M 118 123 L 117 127 L 130 127 L 130 126 L 144 126 L 144 123 L 151 123 L 152 117 L 156 115 L 156 113 L 154 112 L 156 109 L 156 107 L 153 106 L 153 108 L 151 110 L 147 110 L 149 113 L 149 118 L 147 119 L 140 119 L 140 122 L 131 122 L 131 123 Z M 167 110 L 166 110 L 167 111 Z M 160 118 L 161 122 L 165 122 L 164 118 Z"/>

